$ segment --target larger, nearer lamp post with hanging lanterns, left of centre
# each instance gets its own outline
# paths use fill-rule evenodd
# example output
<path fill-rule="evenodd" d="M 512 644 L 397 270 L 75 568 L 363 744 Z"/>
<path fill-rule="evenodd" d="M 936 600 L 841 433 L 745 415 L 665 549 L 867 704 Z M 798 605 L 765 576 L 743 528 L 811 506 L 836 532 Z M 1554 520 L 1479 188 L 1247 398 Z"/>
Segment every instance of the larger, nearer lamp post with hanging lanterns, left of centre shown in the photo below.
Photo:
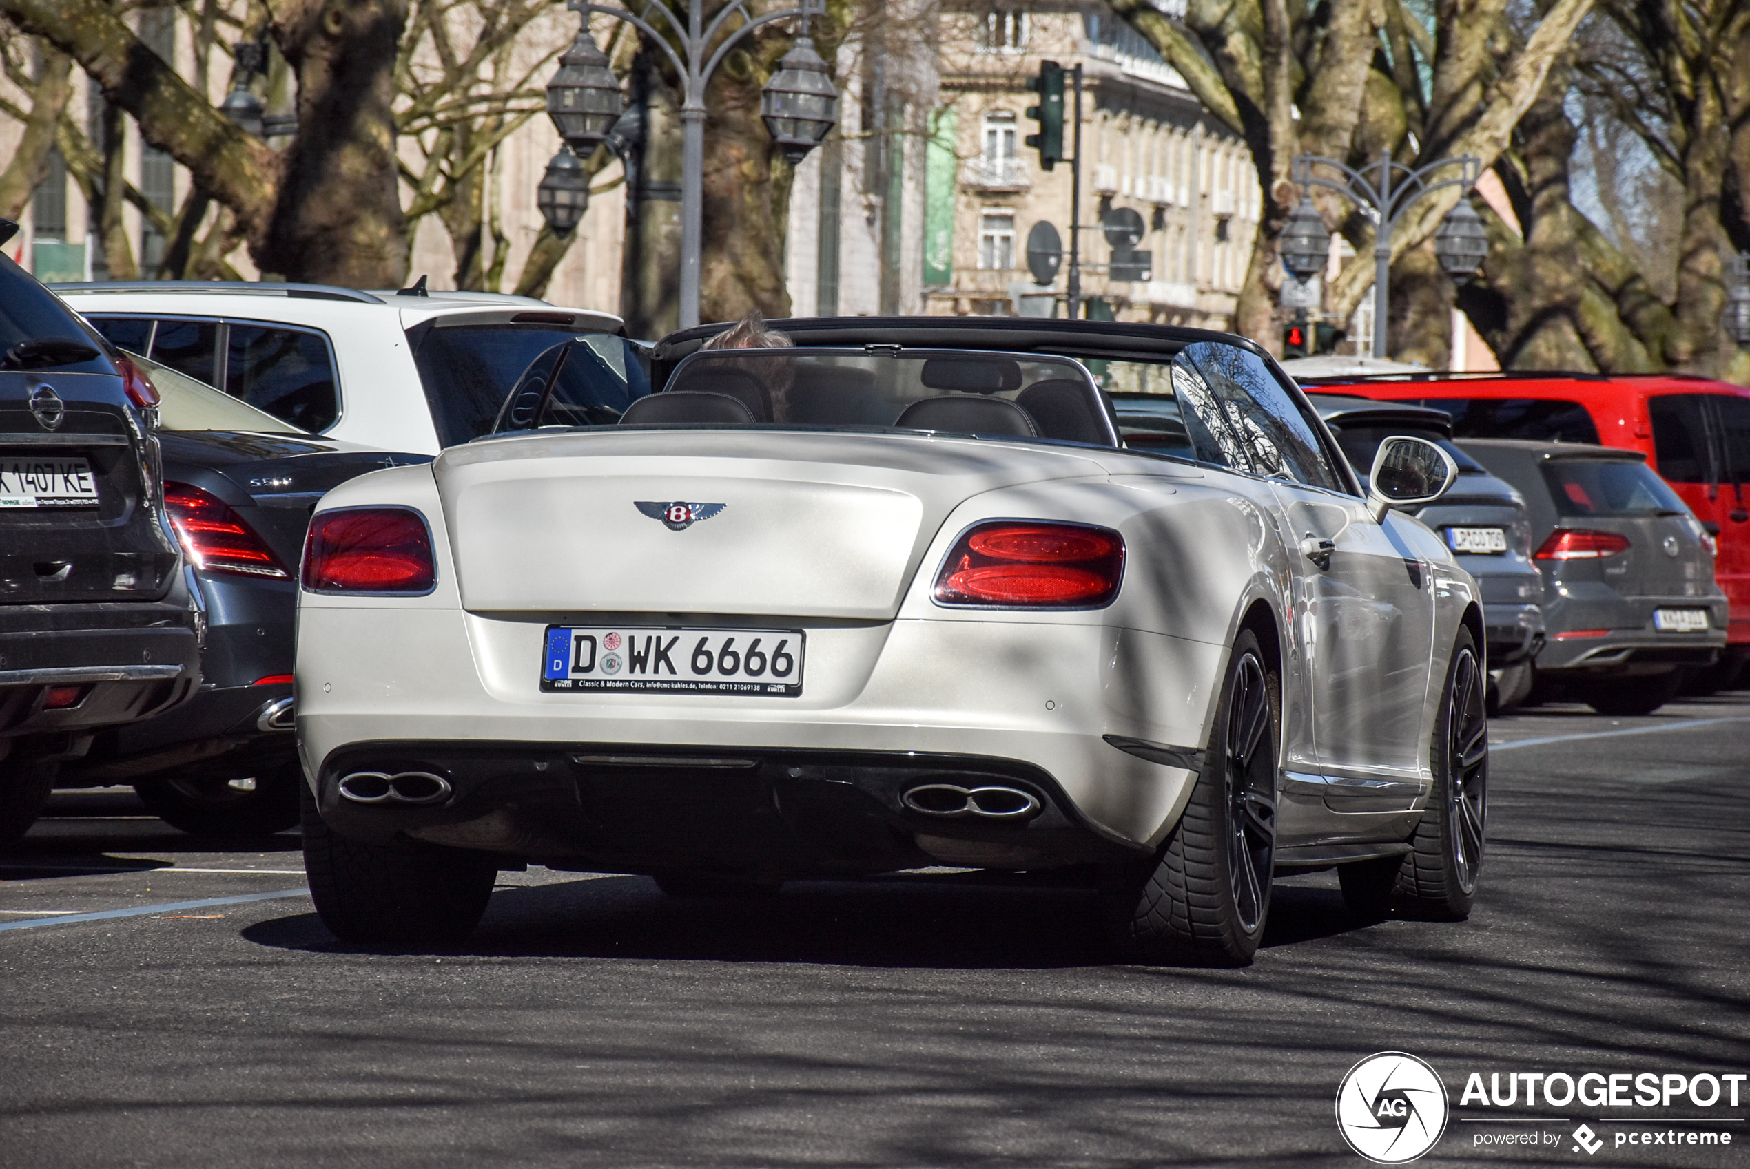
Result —
<path fill-rule="evenodd" d="M 560 72 L 548 84 L 548 114 L 572 150 L 584 154 L 609 136 L 620 117 L 620 82 L 607 68 L 607 56 L 590 37 L 590 12 L 600 12 L 637 28 L 668 54 L 681 77 L 681 329 L 698 323 L 700 252 L 704 248 L 705 213 L 705 86 L 728 56 L 737 40 L 772 21 L 794 16 L 808 17 L 824 12 L 824 0 L 802 0 L 802 7 L 751 16 L 747 0 L 732 0 L 709 23 L 704 0 L 688 0 L 686 23 L 668 10 L 667 3 L 644 3 L 639 12 L 588 0 L 565 0 L 565 7 L 583 14 L 578 40 L 560 58 Z M 660 16 L 658 16 L 660 14 Z M 730 17 L 742 19 L 740 28 L 721 35 Z M 651 19 L 667 23 L 668 33 L 679 42 L 670 44 Z M 803 35 L 779 61 L 779 72 L 760 94 L 760 114 L 766 129 L 791 163 L 802 161 L 831 131 L 838 119 L 838 91 L 828 77 L 826 61 L 814 51 L 814 40 Z M 592 56 L 593 52 L 593 56 Z M 572 59 L 576 56 L 576 61 Z M 572 70 L 572 72 L 569 72 Z M 606 73 L 606 77 L 602 77 Z M 612 91 L 609 96 L 607 91 Z"/>

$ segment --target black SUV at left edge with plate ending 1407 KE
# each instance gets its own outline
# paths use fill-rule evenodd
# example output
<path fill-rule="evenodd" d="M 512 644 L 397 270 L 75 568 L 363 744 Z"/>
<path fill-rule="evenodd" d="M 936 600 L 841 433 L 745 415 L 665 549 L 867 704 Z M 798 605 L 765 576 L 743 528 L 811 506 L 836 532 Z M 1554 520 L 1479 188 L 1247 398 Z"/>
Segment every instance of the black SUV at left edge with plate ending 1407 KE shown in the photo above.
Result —
<path fill-rule="evenodd" d="M 18 225 L 0 220 L 0 245 Z M 100 727 L 200 685 L 152 383 L 0 255 L 0 842 Z"/>

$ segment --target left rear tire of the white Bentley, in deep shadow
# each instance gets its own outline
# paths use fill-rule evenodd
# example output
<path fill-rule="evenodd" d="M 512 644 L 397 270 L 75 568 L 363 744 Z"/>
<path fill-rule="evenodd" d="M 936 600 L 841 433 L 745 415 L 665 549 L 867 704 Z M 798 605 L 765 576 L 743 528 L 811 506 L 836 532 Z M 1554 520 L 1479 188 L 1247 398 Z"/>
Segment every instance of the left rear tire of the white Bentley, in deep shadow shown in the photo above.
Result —
<path fill-rule="evenodd" d="M 341 942 L 458 942 L 480 924 L 499 875 L 488 858 L 460 849 L 348 840 L 303 790 L 304 872 L 322 924 Z"/>

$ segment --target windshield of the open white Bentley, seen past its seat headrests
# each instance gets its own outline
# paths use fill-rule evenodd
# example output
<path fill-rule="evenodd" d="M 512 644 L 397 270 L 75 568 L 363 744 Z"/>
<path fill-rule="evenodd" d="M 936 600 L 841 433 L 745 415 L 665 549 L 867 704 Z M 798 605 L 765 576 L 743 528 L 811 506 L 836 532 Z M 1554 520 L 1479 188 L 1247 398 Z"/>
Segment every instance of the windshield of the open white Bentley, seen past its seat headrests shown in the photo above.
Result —
<path fill-rule="evenodd" d="M 1118 446 L 1080 362 L 970 349 L 702 349 L 621 425 L 940 430 Z"/>

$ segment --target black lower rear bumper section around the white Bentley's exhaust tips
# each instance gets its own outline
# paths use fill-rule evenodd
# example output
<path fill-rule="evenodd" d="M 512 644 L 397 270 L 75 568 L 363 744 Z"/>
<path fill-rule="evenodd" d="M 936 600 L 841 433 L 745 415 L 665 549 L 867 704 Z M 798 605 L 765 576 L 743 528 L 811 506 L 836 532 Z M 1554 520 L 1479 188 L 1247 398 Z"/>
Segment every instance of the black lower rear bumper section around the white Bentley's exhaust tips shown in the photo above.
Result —
<path fill-rule="evenodd" d="M 416 771 L 450 785 L 427 806 L 360 804 L 355 772 Z M 929 814 L 919 785 L 1024 792 L 1031 814 Z M 602 872 L 693 868 L 756 877 L 924 865 L 1046 868 L 1134 860 L 1148 849 L 1083 818 L 1045 771 L 1003 758 L 914 751 L 791 751 L 616 743 L 354 743 L 317 778 L 340 834 L 558 861 Z"/>

